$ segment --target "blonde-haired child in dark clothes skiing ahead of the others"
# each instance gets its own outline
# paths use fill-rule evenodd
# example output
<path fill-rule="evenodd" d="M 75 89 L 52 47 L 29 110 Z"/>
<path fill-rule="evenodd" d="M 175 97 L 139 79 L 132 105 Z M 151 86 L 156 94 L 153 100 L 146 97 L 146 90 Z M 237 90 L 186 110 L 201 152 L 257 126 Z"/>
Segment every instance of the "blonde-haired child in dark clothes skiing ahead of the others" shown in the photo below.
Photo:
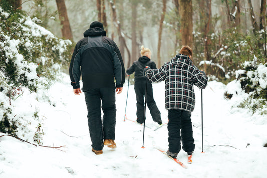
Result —
<path fill-rule="evenodd" d="M 144 96 L 145 96 L 145 87 L 146 87 L 146 77 L 143 75 L 143 70 L 146 66 L 149 66 L 151 69 L 157 69 L 156 64 L 150 60 L 151 51 L 148 48 L 141 47 L 140 51 L 141 57 L 133 63 L 133 65 L 126 70 L 127 75 L 134 74 L 134 91 L 136 95 L 136 121 L 140 124 L 144 123 Z M 162 124 L 160 111 L 156 105 L 156 102 L 153 97 L 153 89 L 150 81 L 147 82 L 147 107 L 150 110 L 150 114 L 154 122 L 157 122 L 159 125 Z"/>

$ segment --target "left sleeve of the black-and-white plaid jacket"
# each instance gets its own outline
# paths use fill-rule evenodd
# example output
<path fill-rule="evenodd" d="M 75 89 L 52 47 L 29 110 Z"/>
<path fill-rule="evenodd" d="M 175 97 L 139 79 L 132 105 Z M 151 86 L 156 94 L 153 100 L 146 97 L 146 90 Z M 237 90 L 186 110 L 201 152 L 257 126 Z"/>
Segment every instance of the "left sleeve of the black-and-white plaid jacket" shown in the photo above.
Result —
<path fill-rule="evenodd" d="M 164 66 L 162 66 L 159 69 L 148 69 L 145 72 L 145 76 L 151 81 L 151 82 L 161 82 L 164 81 L 166 78 L 166 72 Z"/>

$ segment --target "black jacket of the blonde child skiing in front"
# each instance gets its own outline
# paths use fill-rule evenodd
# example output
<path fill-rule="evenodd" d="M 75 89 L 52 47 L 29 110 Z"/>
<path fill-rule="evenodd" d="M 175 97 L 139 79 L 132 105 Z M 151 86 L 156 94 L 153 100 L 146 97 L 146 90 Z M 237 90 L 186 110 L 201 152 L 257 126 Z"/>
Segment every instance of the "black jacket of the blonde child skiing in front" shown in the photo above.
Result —
<path fill-rule="evenodd" d="M 148 57 L 140 57 L 133 65 L 126 70 L 128 75 L 134 73 L 135 81 L 146 81 L 146 77 L 143 75 L 144 68 L 149 66 L 151 69 L 157 69 L 156 64 L 151 61 Z"/>

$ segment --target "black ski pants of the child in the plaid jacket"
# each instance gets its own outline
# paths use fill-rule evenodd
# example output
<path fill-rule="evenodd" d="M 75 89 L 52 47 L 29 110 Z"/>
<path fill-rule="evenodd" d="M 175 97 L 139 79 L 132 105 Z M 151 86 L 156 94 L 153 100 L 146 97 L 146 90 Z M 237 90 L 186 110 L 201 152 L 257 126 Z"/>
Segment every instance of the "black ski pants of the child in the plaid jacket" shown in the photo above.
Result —
<path fill-rule="evenodd" d="M 191 112 L 170 109 L 168 110 L 168 131 L 169 131 L 169 151 L 179 153 L 182 149 L 185 152 L 192 152 L 195 149 L 193 129 L 191 122 Z"/>

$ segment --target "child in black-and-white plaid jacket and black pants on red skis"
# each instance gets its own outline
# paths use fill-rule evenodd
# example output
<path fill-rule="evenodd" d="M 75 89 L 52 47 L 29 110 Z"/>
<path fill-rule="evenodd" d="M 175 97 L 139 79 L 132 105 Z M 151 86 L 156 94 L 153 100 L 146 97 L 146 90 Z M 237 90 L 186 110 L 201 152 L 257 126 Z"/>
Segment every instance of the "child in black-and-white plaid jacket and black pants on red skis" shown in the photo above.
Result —
<path fill-rule="evenodd" d="M 194 110 L 195 94 L 193 85 L 200 89 L 207 86 L 207 77 L 192 63 L 192 49 L 183 46 L 170 62 L 160 69 L 145 68 L 143 73 L 151 82 L 165 81 L 165 108 L 168 110 L 167 154 L 176 158 L 182 149 L 191 155 L 195 144 L 193 138 L 191 112 Z"/>

